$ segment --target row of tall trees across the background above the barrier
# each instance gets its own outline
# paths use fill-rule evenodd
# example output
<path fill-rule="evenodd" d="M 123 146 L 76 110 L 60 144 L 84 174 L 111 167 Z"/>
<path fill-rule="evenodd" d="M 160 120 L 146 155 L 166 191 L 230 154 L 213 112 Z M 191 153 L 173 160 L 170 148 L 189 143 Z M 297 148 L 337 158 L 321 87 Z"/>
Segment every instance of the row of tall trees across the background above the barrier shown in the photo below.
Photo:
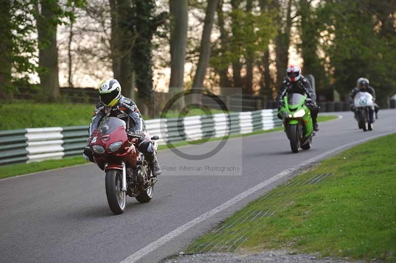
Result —
<path fill-rule="evenodd" d="M 37 74 L 40 98 L 59 99 L 60 71 L 69 86 L 78 74 L 99 80 L 112 72 L 124 94 L 148 108 L 153 71 L 168 67 L 169 92 L 194 87 L 229 94 L 229 88 L 242 88 L 270 97 L 291 49 L 303 74 L 315 76 L 319 93 L 345 94 L 362 76 L 380 98 L 396 92 L 396 0 L 0 3 L 2 96 L 31 86 Z M 57 39 L 59 28 L 63 40 Z"/>

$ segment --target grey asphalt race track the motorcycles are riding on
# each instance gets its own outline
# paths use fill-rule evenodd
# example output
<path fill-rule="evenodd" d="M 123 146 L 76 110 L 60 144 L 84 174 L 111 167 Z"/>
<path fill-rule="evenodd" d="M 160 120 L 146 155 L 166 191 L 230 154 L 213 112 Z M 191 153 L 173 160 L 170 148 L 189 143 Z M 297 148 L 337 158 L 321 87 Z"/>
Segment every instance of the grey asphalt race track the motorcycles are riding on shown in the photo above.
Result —
<path fill-rule="evenodd" d="M 126 212 L 119 216 L 109 210 L 104 174 L 93 164 L 0 180 L 0 262 L 119 263 L 288 168 L 347 143 L 351 146 L 351 142 L 396 132 L 396 110 L 380 111 L 372 132 L 359 131 L 351 113 L 338 114 L 343 118 L 321 123 L 313 148 L 298 154 L 291 153 L 283 132 L 229 139 L 218 153 L 203 160 L 160 151 L 161 166 L 175 171 L 164 171 L 151 202 L 140 204 L 129 198 Z M 218 144 L 213 141 L 180 150 L 199 155 Z M 195 237 L 291 176 L 200 221 L 140 261 L 157 262 L 182 251 Z"/>

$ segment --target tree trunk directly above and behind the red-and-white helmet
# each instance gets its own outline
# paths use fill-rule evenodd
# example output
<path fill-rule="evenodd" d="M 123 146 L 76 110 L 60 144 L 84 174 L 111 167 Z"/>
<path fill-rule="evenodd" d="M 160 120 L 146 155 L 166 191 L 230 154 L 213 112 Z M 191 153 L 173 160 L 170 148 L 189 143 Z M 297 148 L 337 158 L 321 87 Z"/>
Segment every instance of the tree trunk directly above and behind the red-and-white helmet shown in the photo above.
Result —
<path fill-rule="evenodd" d="M 280 4 L 277 0 L 275 2 L 277 8 L 279 8 Z M 292 0 L 288 1 L 288 7 L 286 11 L 286 24 L 283 27 L 279 28 L 278 36 L 275 39 L 276 44 L 276 82 L 277 87 L 280 88 L 285 77 L 285 72 L 289 62 L 289 46 L 290 46 L 290 30 L 292 28 Z M 278 23 L 281 25 L 282 17 L 278 16 Z"/>

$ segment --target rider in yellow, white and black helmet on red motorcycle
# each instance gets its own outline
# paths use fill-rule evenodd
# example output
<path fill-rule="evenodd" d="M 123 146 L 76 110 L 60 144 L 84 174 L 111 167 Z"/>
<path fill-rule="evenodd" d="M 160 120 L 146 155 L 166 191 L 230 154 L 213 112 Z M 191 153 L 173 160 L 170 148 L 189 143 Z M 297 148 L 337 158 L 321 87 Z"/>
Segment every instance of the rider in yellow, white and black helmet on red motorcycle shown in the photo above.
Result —
<path fill-rule="evenodd" d="M 105 116 L 117 117 L 125 121 L 128 132 L 143 137 L 139 139 L 138 150 L 145 155 L 152 175 L 160 175 L 162 171 L 158 165 L 156 152 L 151 142 L 144 138 L 145 123 L 135 102 L 121 95 L 121 85 L 114 79 L 100 83 L 99 99 L 90 125 L 90 136 L 98 129 L 100 120 Z M 88 146 L 84 149 L 84 157 L 94 162 L 93 153 Z"/>

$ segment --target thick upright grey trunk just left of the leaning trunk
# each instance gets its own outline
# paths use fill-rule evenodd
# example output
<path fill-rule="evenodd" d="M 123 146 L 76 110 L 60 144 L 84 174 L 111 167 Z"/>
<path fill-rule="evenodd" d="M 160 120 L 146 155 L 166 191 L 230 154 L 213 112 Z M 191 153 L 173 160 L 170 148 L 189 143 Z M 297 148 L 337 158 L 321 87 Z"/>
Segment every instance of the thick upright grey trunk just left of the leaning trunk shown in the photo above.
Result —
<path fill-rule="evenodd" d="M 188 0 L 169 0 L 171 17 L 170 55 L 171 72 L 169 92 L 174 95 L 184 88 L 184 64 L 186 61 Z M 184 108 L 184 96 L 178 103 L 179 110 Z"/>

